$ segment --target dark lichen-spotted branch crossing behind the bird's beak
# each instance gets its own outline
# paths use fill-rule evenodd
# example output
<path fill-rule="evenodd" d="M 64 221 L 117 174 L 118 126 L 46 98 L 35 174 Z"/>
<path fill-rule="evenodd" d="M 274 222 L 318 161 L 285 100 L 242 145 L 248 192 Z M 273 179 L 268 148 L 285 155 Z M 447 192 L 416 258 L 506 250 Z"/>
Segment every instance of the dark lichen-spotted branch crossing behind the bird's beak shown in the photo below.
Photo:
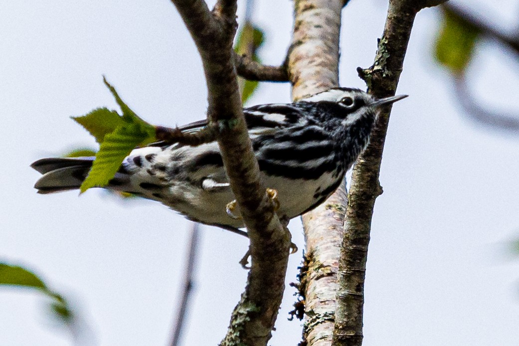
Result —
<path fill-rule="evenodd" d="M 359 75 L 366 81 L 368 92 L 376 98 L 394 95 L 416 13 L 427 5 L 427 2 L 416 0 L 389 2 L 384 34 L 379 40 L 375 63 L 366 70 L 358 69 Z M 339 288 L 332 345 L 362 344 L 367 247 L 373 206 L 375 199 L 382 193 L 378 177 L 388 121 L 389 109 L 379 115 L 370 143 L 353 168 L 344 238 L 340 248 Z"/>

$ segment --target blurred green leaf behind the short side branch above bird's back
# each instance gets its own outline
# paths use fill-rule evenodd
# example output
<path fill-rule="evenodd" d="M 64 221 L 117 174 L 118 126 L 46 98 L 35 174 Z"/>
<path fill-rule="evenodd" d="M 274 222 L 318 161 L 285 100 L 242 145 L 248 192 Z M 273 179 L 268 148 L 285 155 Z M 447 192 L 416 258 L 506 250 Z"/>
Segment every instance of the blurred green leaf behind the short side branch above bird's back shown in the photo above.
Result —
<path fill-rule="evenodd" d="M 234 50 L 240 55 L 245 54 L 251 57 L 252 60 L 260 62 L 256 51 L 263 45 L 263 41 L 263 31 L 251 22 L 245 22 L 237 35 Z M 244 104 L 252 96 L 259 84 L 257 81 L 245 80 L 239 77 L 238 85 L 241 91 L 241 102 Z"/>

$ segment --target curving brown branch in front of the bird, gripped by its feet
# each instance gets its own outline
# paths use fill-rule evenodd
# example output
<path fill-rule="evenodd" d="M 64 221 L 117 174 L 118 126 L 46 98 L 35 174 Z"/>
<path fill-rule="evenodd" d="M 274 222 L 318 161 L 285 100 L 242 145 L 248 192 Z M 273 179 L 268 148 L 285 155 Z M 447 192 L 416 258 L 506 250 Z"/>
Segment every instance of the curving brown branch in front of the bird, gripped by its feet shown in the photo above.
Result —
<path fill-rule="evenodd" d="M 271 337 L 284 290 L 290 233 L 274 212 L 243 117 L 233 64 L 236 0 L 221 0 L 212 12 L 201 0 L 172 0 L 202 58 L 208 86 L 208 118 L 218 123 L 222 159 L 251 242 L 248 285 L 222 345 L 264 346 Z M 225 206 L 222 206 L 225 207 Z"/>

